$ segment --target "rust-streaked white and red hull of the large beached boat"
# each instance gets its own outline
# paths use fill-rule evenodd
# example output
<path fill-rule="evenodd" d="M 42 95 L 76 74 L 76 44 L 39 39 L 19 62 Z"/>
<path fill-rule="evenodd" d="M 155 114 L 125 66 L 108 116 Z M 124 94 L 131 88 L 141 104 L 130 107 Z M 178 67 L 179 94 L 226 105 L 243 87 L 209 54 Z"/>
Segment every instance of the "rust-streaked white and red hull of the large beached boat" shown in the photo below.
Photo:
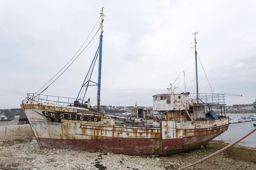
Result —
<path fill-rule="evenodd" d="M 228 128 L 228 117 L 206 121 L 139 119 L 31 100 L 23 100 L 21 107 L 41 149 L 168 156 L 199 147 Z"/>

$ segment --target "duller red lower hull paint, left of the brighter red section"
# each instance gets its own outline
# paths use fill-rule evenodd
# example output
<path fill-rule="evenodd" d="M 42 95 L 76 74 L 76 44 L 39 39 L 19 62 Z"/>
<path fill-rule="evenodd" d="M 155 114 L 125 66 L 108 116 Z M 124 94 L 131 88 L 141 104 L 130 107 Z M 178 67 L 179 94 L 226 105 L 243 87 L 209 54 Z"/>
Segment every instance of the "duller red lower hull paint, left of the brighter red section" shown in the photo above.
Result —
<path fill-rule="evenodd" d="M 47 139 L 39 138 L 41 149 L 72 149 L 89 152 L 112 152 L 125 155 L 152 156 L 160 153 L 161 139 Z"/>

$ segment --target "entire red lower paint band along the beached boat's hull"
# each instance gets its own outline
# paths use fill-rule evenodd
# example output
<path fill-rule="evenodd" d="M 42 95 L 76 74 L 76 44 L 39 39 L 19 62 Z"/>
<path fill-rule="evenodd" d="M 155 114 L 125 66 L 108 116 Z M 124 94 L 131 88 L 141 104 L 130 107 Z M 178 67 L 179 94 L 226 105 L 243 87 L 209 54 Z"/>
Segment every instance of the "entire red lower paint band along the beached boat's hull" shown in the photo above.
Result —
<path fill-rule="evenodd" d="M 41 149 L 72 149 L 88 152 L 112 152 L 124 155 L 169 156 L 191 150 L 209 142 L 222 132 L 178 139 L 48 139 L 39 138 Z"/>

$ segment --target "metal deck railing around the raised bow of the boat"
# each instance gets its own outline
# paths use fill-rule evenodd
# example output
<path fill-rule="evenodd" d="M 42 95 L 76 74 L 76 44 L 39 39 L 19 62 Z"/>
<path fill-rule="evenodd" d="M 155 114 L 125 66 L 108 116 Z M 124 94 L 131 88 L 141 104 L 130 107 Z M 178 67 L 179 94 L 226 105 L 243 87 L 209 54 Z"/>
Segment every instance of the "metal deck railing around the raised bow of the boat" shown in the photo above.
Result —
<path fill-rule="evenodd" d="M 77 100 L 75 98 L 70 98 L 70 97 L 50 96 L 50 95 L 34 94 L 34 93 L 28 93 L 27 99 L 32 101 L 38 101 L 38 102 L 47 102 L 47 103 L 53 103 L 57 105 L 70 105 L 70 106 L 74 106 L 74 102 Z M 77 101 L 79 102 L 79 105 L 82 104 L 81 103 L 82 101 L 80 99 L 78 99 Z"/>

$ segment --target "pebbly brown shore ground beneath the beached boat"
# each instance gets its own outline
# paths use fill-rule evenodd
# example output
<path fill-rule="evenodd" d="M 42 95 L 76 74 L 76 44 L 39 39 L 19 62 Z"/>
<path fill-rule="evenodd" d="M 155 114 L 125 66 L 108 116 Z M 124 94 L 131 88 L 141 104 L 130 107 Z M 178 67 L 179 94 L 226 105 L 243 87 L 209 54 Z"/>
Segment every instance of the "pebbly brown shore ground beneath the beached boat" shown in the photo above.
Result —
<path fill-rule="evenodd" d="M 227 144 L 212 141 L 199 148 L 169 157 L 143 158 L 79 150 L 40 150 L 32 131 L 0 139 L 0 165 L 20 170 L 172 170 L 202 159 Z M 191 170 L 256 170 L 256 148 L 235 145 Z"/>

